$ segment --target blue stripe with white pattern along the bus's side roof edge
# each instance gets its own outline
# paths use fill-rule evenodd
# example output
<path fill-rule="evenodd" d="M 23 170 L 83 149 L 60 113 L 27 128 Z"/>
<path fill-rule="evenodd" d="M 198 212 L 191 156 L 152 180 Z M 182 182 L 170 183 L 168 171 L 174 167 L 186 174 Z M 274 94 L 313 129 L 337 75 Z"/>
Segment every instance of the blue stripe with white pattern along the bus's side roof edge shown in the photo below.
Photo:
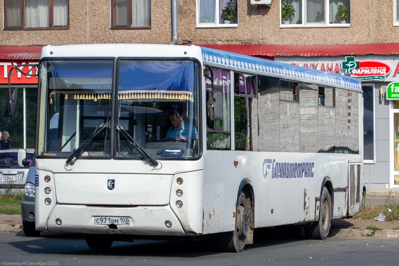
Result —
<path fill-rule="evenodd" d="M 241 69 L 243 72 L 257 71 L 265 75 L 279 75 L 285 79 L 324 83 L 330 87 L 361 92 L 361 82 L 352 77 L 206 47 L 201 47 L 201 50 L 204 62 L 221 65 L 221 67 Z"/>

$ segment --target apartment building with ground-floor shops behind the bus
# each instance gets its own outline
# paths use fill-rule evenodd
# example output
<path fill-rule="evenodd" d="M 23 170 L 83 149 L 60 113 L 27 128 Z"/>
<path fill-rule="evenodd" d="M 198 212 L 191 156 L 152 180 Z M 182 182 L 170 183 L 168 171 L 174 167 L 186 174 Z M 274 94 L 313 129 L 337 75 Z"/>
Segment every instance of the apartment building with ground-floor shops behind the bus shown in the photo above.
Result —
<path fill-rule="evenodd" d="M 1 95 L 10 67 L 37 62 L 43 45 L 170 43 L 171 6 L 171 0 L 2 0 Z M 399 187 L 399 104 L 386 97 L 387 85 L 399 81 L 397 0 L 178 0 L 177 16 L 178 44 L 361 79 L 365 183 Z M 0 130 L 10 132 L 13 148 L 33 148 L 37 79 L 17 74 L 12 84 L 23 104 L 13 120 L 0 118 Z"/>

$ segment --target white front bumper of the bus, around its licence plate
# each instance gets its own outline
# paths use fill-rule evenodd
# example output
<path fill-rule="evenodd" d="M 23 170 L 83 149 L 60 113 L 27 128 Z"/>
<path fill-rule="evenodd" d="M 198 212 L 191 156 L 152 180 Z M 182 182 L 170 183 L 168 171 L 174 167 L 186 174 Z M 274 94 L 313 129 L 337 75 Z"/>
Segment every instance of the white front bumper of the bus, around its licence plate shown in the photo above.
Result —
<path fill-rule="evenodd" d="M 128 217 L 130 225 L 97 225 L 95 217 Z M 61 219 L 61 225 L 55 220 Z M 165 222 L 172 227 L 167 228 Z M 187 233 L 169 205 L 137 207 L 93 207 L 87 205 L 56 205 L 47 220 L 48 232 L 94 233 L 94 234 L 138 234 L 176 235 Z"/>

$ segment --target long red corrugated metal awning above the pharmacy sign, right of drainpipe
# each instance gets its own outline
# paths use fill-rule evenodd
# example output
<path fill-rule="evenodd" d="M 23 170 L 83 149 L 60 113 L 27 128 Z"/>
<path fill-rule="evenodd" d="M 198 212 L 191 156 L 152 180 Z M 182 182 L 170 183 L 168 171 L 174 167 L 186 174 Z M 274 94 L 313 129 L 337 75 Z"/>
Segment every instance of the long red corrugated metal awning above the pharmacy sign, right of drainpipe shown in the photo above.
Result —
<path fill-rule="evenodd" d="M 251 56 L 337 56 L 397 55 L 399 43 L 332 44 L 332 45 L 267 45 L 267 44 L 198 44 L 199 46 Z"/>

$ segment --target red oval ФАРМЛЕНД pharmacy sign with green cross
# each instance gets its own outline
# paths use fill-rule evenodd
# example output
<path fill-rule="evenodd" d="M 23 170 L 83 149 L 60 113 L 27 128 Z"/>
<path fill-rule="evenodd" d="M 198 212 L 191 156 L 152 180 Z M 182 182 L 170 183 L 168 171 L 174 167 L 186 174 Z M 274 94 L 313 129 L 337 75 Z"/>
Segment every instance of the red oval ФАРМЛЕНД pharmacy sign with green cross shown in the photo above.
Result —
<path fill-rule="evenodd" d="M 383 81 L 391 73 L 391 66 L 383 61 L 356 61 L 354 56 L 347 56 L 345 59 L 342 61 L 342 69 L 360 81 Z"/>

